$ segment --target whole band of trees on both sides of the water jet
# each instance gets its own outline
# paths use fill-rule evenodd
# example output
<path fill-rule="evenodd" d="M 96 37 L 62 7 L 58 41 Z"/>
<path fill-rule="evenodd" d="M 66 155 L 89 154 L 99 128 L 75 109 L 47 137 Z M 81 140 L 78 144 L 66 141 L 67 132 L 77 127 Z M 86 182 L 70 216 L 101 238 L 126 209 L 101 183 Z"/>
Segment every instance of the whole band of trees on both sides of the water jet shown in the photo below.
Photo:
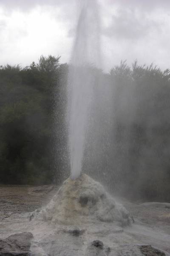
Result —
<path fill-rule="evenodd" d="M 91 67 L 83 170 L 129 198 L 170 201 L 170 70 Z M 0 69 L 0 183 L 61 183 L 69 174 L 68 65 L 41 56 Z"/>

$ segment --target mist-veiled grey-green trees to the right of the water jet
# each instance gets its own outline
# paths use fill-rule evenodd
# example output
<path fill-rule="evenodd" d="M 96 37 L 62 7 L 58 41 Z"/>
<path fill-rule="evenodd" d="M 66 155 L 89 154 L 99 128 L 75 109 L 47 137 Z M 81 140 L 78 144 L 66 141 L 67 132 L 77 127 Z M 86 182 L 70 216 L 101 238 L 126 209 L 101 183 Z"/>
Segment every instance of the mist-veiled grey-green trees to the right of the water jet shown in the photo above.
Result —
<path fill-rule="evenodd" d="M 118 195 L 170 201 L 169 99 L 170 70 L 113 67 L 95 89 L 84 170 Z"/>

